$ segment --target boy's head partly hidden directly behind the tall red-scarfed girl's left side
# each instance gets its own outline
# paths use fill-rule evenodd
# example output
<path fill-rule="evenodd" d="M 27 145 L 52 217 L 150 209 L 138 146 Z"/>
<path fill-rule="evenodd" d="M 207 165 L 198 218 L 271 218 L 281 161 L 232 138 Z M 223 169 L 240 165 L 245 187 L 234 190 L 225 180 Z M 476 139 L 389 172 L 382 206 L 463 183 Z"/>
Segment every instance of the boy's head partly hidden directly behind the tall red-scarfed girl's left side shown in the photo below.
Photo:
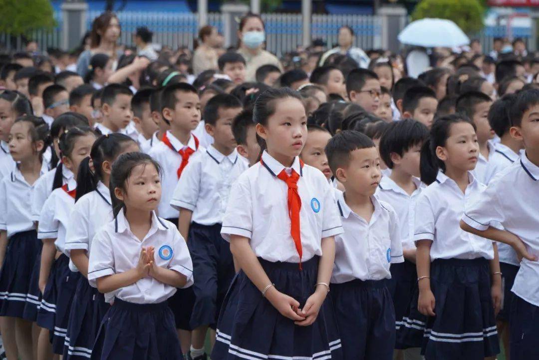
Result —
<path fill-rule="evenodd" d="M 244 109 L 232 122 L 232 134 L 236 140 L 238 154 L 243 156 L 252 167 L 260 156 L 260 145 L 257 141 L 257 130 L 253 121 L 253 110 Z"/>

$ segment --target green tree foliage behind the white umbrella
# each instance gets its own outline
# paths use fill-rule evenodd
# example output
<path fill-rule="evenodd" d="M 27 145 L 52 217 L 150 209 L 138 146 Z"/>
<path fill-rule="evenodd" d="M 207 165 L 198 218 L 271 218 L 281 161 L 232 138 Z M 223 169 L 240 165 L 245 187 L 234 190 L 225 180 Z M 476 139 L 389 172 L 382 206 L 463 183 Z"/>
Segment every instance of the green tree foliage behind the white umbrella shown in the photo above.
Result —
<path fill-rule="evenodd" d="M 472 34 L 483 28 L 484 11 L 479 0 L 421 0 L 412 13 L 412 19 L 448 19 L 465 33 Z"/>

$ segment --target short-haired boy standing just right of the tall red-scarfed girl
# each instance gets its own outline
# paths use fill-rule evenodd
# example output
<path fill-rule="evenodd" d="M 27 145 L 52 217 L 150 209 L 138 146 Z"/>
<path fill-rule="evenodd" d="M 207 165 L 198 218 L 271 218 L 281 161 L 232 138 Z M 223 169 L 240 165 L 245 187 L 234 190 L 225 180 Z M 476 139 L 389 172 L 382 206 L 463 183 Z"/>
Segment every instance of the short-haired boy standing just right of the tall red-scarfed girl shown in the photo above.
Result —
<path fill-rule="evenodd" d="M 380 157 L 374 142 L 354 130 L 335 135 L 326 154 L 346 194 L 335 190 L 344 233 L 335 237 L 330 285 L 343 359 L 391 360 L 395 312 L 386 279 L 390 265 L 404 259 L 397 214 L 374 195 Z"/>

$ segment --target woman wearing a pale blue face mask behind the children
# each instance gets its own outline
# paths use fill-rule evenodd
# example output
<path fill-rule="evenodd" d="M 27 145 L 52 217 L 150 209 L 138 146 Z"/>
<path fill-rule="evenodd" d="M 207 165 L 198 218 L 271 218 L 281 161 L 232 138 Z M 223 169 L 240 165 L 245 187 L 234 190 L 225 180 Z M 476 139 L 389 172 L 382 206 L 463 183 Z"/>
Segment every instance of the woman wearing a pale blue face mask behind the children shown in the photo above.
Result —
<path fill-rule="evenodd" d="M 240 41 L 238 52 L 247 61 L 246 81 L 256 81 L 257 69 L 266 64 L 277 66 L 282 72 L 282 66 L 275 55 L 262 49 L 266 40 L 264 22 L 260 15 L 248 13 L 239 23 L 238 38 Z"/>

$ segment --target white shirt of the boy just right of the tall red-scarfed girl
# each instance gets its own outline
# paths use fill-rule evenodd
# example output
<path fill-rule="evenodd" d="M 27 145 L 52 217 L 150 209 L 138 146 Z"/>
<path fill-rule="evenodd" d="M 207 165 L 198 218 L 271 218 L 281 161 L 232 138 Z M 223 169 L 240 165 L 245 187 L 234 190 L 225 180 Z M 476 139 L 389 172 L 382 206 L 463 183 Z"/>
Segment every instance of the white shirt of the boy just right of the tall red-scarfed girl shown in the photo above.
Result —
<path fill-rule="evenodd" d="M 404 262 L 397 213 L 388 203 L 371 196 L 374 212 L 367 223 L 350 209 L 342 191 L 334 191 L 344 232 L 335 237 L 331 282 L 391 279 L 390 265 Z"/>

